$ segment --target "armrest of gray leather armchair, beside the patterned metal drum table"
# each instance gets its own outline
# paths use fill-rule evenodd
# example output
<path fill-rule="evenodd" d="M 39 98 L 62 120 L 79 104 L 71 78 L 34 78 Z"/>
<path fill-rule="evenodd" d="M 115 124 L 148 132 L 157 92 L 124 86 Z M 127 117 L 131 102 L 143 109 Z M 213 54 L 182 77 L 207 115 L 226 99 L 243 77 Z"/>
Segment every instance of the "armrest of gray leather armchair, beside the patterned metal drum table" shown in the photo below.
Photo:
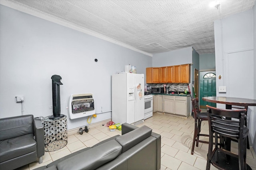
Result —
<path fill-rule="evenodd" d="M 44 126 L 41 120 L 34 119 L 34 136 L 38 158 L 44 155 Z"/>

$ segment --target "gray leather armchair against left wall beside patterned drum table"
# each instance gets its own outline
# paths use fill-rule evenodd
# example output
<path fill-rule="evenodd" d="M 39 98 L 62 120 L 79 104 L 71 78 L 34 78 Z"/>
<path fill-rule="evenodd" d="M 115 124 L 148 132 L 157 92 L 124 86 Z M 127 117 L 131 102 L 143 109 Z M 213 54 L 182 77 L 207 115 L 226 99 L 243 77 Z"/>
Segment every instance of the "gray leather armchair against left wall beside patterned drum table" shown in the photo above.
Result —
<path fill-rule="evenodd" d="M 0 119 L 0 170 L 13 170 L 44 155 L 44 126 L 33 115 Z"/>

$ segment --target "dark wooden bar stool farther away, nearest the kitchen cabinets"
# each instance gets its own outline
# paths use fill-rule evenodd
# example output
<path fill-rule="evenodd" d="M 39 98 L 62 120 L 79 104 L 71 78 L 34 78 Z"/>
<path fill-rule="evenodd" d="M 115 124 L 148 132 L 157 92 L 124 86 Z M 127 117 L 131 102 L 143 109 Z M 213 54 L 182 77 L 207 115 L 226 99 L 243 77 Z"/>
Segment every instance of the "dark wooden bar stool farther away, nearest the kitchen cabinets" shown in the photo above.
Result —
<path fill-rule="evenodd" d="M 192 148 L 191 148 L 191 154 L 193 155 L 194 148 L 195 148 L 195 142 L 196 142 L 196 147 L 198 147 L 198 142 L 208 144 L 209 143 L 208 141 L 199 140 L 199 137 L 200 136 L 209 136 L 209 135 L 208 134 L 200 134 L 202 121 L 208 121 L 207 112 L 200 112 L 199 105 L 198 105 L 198 98 L 193 98 L 193 99 L 191 99 L 191 101 L 192 101 L 192 107 L 193 107 L 193 112 L 194 112 L 194 114 L 192 114 L 192 116 L 194 117 L 194 121 L 195 121 L 193 143 L 192 143 Z"/>

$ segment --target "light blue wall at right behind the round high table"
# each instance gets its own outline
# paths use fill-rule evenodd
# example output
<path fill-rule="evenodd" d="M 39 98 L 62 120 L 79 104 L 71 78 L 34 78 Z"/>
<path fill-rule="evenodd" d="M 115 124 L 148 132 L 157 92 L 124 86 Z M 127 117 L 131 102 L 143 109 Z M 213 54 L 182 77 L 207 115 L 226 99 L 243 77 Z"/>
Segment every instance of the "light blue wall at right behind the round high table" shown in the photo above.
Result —
<path fill-rule="evenodd" d="M 255 10 L 255 6 L 254 6 Z M 217 96 L 230 96 L 229 89 L 233 89 L 234 84 L 228 84 L 232 81 L 242 84 L 236 90 L 232 91 L 230 97 L 241 98 L 254 98 L 256 99 L 256 81 L 255 81 L 255 11 L 248 10 L 239 14 L 232 15 L 222 20 L 214 21 L 214 38 L 215 38 L 215 57 L 216 57 L 216 76 L 222 75 L 221 80 L 216 80 L 216 87 L 226 86 L 227 93 L 217 92 Z M 254 51 L 254 54 L 252 54 Z M 242 62 L 236 62 L 235 64 L 229 64 L 228 57 L 238 56 L 244 61 L 244 63 L 251 64 L 254 70 L 250 73 L 247 72 L 247 68 L 241 68 Z M 254 55 L 254 57 L 252 56 Z M 235 58 L 235 57 L 234 57 Z M 241 58 L 239 58 L 241 60 Z M 245 58 L 254 58 L 254 60 L 247 61 Z M 236 59 L 238 60 L 238 59 Z M 242 61 L 241 60 L 241 61 Z M 254 64 L 253 64 L 254 63 Z M 241 66 L 240 66 L 241 65 Z M 228 70 L 238 70 L 234 77 L 230 77 Z M 233 74 L 232 74 L 233 75 Z M 254 78 L 254 80 L 252 80 Z M 244 81 L 244 79 L 246 79 Z M 252 82 L 252 83 L 248 83 Z M 237 96 L 241 94 L 240 96 Z M 254 95 L 253 95 L 254 94 Z M 217 107 L 224 107 L 222 104 L 217 104 Z M 249 140 L 250 144 L 253 144 L 256 134 L 256 107 L 249 106 L 248 108 L 248 127 L 249 127 Z M 254 143 L 255 147 L 255 143 Z M 255 148 L 254 148 L 255 150 Z"/>

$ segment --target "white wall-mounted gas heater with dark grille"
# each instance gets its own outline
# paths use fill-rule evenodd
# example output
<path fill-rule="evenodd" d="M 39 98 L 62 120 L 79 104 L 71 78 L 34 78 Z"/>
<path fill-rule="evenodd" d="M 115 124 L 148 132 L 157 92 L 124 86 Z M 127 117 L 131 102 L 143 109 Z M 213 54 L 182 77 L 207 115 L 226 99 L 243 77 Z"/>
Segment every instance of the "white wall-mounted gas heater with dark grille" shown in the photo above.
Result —
<path fill-rule="evenodd" d="M 69 118 L 76 119 L 95 114 L 94 98 L 91 93 L 72 94 L 69 100 Z"/>

